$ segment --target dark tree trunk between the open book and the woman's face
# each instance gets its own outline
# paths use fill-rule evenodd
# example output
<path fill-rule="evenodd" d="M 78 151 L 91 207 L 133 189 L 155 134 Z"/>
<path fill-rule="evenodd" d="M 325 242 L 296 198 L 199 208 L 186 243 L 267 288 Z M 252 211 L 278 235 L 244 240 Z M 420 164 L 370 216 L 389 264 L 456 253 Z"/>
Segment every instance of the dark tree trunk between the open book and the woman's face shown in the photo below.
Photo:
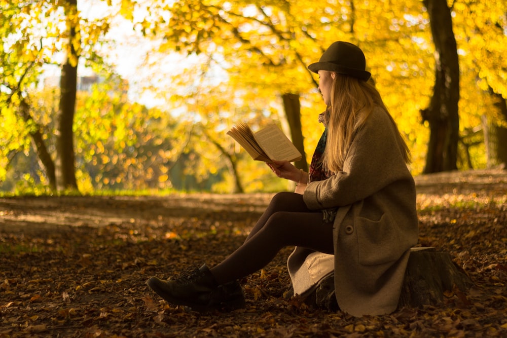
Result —
<path fill-rule="evenodd" d="M 303 155 L 302 159 L 295 163 L 296 167 L 308 172 L 308 163 L 306 162 L 303 131 L 301 128 L 301 104 L 299 94 L 285 93 L 282 95 L 283 108 L 289 128 L 291 128 L 292 142 Z"/>

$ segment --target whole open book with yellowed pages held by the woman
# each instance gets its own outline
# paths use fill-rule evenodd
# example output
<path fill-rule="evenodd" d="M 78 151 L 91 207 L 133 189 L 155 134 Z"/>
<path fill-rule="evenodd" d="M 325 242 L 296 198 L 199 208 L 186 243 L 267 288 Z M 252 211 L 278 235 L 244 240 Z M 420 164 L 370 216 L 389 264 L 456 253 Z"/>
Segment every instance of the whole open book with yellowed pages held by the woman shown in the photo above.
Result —
<path fill-rule="evenodd" d="M 252 159 L 257 161 L 299 161 L 302 156 L 294 144 L 275 124 L 253 133 L 246 123 L 239 123 L 227 132 Z"/>

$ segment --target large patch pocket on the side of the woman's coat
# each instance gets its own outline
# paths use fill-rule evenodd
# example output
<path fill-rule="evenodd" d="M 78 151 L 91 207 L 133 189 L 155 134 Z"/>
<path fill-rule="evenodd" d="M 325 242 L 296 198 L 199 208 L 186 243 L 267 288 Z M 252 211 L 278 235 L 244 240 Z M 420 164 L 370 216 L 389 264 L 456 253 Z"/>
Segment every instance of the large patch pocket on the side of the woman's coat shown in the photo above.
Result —
<path fill-rule="evenodd" d="M 406 248 L 392 219 L 383 214 L 379 220 L 356 218 L 359 263 L 366 266 L 382 265 L 400 258 Z"/>

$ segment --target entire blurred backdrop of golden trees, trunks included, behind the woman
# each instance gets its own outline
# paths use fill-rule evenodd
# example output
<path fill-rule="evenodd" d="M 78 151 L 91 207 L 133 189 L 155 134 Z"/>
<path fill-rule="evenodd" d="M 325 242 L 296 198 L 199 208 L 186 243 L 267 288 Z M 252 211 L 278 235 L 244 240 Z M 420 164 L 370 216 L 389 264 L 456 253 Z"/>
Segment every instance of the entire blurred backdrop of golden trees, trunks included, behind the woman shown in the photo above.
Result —
<path fill-rule="evenodd" d="M 444 40 L 435 36 L 443 31 L 431 14 L 436 4 L 450 15 Z M 305 154 L 296 165 L 307 168 L 322 132 L 316 117 L 325 107 L 306 66 L 336 40 L 365 51 L 413 152 L 415 175 L 507 163 L 507 5 L 501 0 L 0 5 L 4 191 L 288 189 L 291 183 L 251 161 L 225 133 L 238 121 L 257 129 L 274 120 Z M 130 31 L 128 39 L 116 26 Z M 439 69 L 448 70 L 443 50 L 457 55 L 452 66 L 459 82 L 449 82 L 445 72 L 439 78 Z M 135 80 L 119 67 L 121 57 L 134 55 L 143 55 L 130 65 Z M 65 70 L 52 84 L 49 65 Z M 65 67 L 76 71 L 75 82 L 65 80 Z M 439 81 L 459 93 L 449 132 L 439 132 L 449 123 L 447 106 L 435 104 L 442 99 Z M 65 100 L 72 91 L 75 103 Z M 428 110 L 437 118 L 421 116 Z M 71 118 L 64 125 L 63 111 Z M 437 151 L 443 145 L 449 148 Z M 434 165 L 439 162 L 447 164 Z"/>

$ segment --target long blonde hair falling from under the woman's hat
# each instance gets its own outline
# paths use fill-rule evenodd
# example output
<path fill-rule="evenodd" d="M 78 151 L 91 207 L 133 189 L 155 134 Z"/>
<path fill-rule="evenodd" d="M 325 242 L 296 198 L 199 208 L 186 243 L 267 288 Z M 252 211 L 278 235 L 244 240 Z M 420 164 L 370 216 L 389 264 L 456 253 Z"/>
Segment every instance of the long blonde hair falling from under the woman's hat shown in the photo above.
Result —
<path fill-rule="evenodd" d="M 397 131 L 397 142 L 405 163 L 410 163 L 410 150 L 377 89 L 370 82 L 335 73 L 330 89 L 330 106 L 325 114 L 328 128 L 323 164 L 337 173 L 343 163 L 357 131 L 363 127 L 375 107 L 381 107 Z"/>

